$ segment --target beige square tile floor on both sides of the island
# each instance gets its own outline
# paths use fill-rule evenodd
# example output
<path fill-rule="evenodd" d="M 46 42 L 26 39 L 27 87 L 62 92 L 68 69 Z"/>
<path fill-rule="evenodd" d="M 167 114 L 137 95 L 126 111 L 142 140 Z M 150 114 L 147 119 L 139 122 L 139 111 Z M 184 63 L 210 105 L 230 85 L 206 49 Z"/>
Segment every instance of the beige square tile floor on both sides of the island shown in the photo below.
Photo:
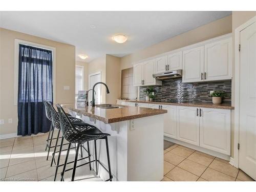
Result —
<path fill-rule="evenodd" d="M 56 135 L 56 133 L 55 133 Z M 46 161 L 45 141 L 48 134 L 0 140 L 1 181 L 53 181 L 55 167 L 51 156 Z M 67 146 L 67 145 L 65 145 Z M 51 153 L 50 153 L 51 154 Z M 74 151 L 70 160 L 74 159 Z M 61 155 L 61 163 L 65 153 Z M 68 167 L 72 167 L 70 164 Z M 60 180 L 59 169 L 57 180 Z M 71 172 L 65 180 L 71 180 Z M 89 166 L 77 168 L 77 181 L 101 181 Z M 163 181 L 253 181 L 227 161 L 175 144 L 164 151 Z"/>

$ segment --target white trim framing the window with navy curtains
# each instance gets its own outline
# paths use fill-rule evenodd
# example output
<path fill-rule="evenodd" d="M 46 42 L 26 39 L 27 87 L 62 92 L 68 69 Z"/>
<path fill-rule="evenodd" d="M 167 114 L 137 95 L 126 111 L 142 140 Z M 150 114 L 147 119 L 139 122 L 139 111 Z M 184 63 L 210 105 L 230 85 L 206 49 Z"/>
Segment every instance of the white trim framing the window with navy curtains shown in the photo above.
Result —
<path fill-rule="evenodd" d="M 19 44 L 29 45 L 33 47 L 48 49 L 52 51 L 52 81 L 53 81 L 53 102 L 55 103 L 56 97 L 56 48 L 36 44 L 35 42 L 15 39 L 14 40 L 14 105 L 18 101 L 18 58 L 19 58 Z"/>

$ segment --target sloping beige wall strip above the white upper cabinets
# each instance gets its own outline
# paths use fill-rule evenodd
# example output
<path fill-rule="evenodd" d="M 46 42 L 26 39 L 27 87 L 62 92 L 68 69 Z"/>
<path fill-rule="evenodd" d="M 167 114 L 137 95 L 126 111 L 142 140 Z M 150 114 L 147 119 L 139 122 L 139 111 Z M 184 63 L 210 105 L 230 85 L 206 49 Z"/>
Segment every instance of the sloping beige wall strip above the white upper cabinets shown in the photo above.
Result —
<path fill-rule="evenodd" d="M 226 16 L 215 22 L 206 24 L 175 37 L 169 38 L 159 44 L 147 47 L 130 55 L 121 58 L 121 69 L 127 69 L 132 66 L 132 62 L 152 57 L 157 54 L 182 48 L 196 42 L 214 38 L 226 33 L 232 32 L 232 16 Z"/>

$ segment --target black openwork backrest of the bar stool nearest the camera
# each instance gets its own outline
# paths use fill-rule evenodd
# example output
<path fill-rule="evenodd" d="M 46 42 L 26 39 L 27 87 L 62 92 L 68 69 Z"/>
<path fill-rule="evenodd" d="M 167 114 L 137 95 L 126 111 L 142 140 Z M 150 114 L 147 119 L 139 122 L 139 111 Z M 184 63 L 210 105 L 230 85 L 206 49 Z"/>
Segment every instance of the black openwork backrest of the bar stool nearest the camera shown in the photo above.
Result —
<path fill-rule="evenodd" d="M 79 142 L 79 138 L 81 138 L 82 134 L 78 133 L 75 130 L 74 125 L 69 120 L 69 117 L 65 113 L 65 111 L 62 109 L 62 107 L 58 104 L 56 104 L 56 107 L 58 109 L 59 113 L 59 119 L 60 119 L 60 129 L 62 131 L 62 135 L 65 137 L 65 139 L 71 143 L 77 143 Z"/>

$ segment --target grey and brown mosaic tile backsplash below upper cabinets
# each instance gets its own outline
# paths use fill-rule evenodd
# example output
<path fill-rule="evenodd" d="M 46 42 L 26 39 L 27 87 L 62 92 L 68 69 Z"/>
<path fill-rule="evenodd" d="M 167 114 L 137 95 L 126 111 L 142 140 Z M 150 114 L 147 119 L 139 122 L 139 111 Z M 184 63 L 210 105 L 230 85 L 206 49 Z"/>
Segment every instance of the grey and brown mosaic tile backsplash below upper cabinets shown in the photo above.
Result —
<path fill-rule="evenodd" d="M 146 87 L 140 87 L 140 100 L 145 100 Z M 182 83 L 182 79 L 162 81 L 162 86 L 154 86 L 159 102 L 205 102 L 211 103 L 210 91 L 223 90 L 226 97 L 223 102 L 231 103 L 231 80 L 215 82 Z"/>

